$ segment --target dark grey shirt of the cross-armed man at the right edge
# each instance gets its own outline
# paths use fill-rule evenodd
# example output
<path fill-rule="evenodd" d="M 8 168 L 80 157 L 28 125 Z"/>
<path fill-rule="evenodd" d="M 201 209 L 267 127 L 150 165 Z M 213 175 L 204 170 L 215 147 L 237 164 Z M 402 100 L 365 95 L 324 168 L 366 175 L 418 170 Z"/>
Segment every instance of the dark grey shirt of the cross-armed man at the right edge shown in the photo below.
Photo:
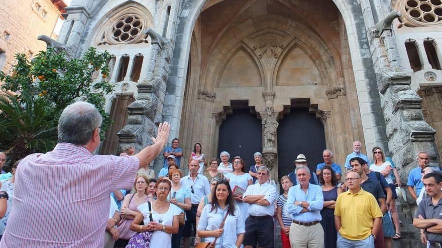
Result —
<path fill-rule="evenodd" d="M 422 215 L 425 219 L 442 219 L 442 199 L 439 200 L 436 206 L 433 206 L 431 197 L 423 199 L 417 207 L 415 218 Z M 442 242 L 442 234 L 431 233 L 425 231 L 428 240 L 432 242 Z"/>

